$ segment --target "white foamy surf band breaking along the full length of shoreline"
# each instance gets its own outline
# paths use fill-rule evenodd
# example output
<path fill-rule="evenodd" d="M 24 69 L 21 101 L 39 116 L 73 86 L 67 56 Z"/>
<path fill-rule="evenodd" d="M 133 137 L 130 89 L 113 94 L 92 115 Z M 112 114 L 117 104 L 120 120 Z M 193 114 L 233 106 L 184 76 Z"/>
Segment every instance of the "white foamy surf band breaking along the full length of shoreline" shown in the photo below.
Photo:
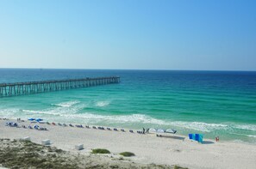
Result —
<path fill-rule="evenodd" d="M 139 126 L 140 124 L 147 124 L 151 127 L 173 127 L 184 130 L 197 130 L 202 132 L 212 132 L 216 130 L 225 130 L 232 134 L 235 130 L 247 130 L 248 133 L 242 133 L 249 137 L 255 138 L 256 125 L 253 124 L 208 124 L 203 122 L 185 122 L 185 121 L 171 121 L 165 119 L 153 118 L 145 114 L 128 114 L 128 115 L 103 115 L 91 112 L 84 112 L 84 104 L 77 104 L 76 102 L 69 102 L 69 106 L 58 106 L 52 109 L 41 111 L 36 110 L 19 110 L 19 109 L 3 109 L 0 110 L 0 117 L 41 117 L 46 120 L 58 120 L 66 122 L 79 122 L 88 124 L 123 124 Z M 72 106 L 71 106 L 72 105 Z M 80 111 L 82 110 L 82 112 Z M 35 118 L 36 118 L 35 117 Z M 234 134 L 234 133 L 233 133 Z"/>

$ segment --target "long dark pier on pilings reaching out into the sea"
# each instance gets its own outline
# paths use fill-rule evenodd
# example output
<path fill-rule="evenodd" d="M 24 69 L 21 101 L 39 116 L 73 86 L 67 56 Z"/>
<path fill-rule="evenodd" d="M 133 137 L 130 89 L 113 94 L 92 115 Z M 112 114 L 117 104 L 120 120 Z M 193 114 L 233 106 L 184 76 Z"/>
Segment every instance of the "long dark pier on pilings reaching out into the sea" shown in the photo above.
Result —
<path fill-rule="evenodd" d="M 17 96 L 24 94 L 39 94 L 72 88 L 88 88 L 99 85 L 119 83 L 120 77 L 97 77 L 84 79 L 69 79 L 59 81 L 29 81 L 0 83 L 0 97 Z"/>

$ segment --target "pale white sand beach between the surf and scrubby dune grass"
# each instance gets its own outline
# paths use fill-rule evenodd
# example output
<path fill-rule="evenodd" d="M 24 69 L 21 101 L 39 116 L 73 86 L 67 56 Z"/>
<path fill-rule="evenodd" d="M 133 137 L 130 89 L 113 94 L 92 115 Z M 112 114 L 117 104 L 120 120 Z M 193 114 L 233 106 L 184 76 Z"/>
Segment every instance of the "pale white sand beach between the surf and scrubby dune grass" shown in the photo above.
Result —
<path fill-rule="evenodd" d="M 50 139 L 52 146 L 80 154 L 90 154 L 91 148 L 107 148 L 112 154 L 133 152 L 136 156 L 130 159 L 139 163 L 189 168 L 256 168 L 256 146 L 251 144 L 210 140 L 201 144 L 178 135 L 156 137 L 153 134 L 132 134 L 128 130 L 94 130 L 49 124 L 38 124 L 47 127 L 47 131 L 29 130 L 5 126 L 6 122 L 0 120 L 0 138 L 19 139 L 30 136 L 31 141 L 36 143 Z M 22 124 L 28 127 L 30 123 L 19 123 L 20 126 Z M 77 144 L 84 144 L 84 150 L 75 150 Z"/>

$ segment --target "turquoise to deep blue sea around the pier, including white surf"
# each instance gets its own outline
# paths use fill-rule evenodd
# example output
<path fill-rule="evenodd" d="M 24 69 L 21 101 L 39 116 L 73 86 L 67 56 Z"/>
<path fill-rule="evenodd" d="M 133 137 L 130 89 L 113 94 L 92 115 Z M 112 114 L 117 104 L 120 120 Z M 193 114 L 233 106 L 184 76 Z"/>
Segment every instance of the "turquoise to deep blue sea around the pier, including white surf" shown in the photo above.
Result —
<path fill-rule="evenodd" d="M 0 98 L 0 117 L 173 128 L 256 143 L 256 72 L 0 69 L 0 83 L 121 76 L 120 84 Z"/>

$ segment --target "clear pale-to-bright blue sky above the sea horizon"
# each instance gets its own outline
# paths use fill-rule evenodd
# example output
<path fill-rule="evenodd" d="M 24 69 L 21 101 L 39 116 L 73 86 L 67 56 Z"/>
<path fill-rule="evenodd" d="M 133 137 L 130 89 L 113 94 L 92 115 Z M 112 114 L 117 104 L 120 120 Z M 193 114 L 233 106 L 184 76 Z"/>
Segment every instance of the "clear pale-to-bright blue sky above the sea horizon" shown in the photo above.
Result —
<path fill-rule="evenodd" d="M 0 68 L 256 70 L 256 1 L 0 0 Z"/>

